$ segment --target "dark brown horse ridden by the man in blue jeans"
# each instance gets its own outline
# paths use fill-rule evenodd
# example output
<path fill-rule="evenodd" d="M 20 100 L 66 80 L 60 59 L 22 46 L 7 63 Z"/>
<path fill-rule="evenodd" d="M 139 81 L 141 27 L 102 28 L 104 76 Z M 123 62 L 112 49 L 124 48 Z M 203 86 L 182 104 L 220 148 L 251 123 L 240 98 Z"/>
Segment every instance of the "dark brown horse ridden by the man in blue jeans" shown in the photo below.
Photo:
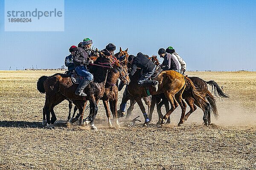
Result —
<path fill-rule="evenodd" d="M 83 109 L 87 101 L 90 102 L 90 114 L 85 119 L 85 125 L 90 124 L 91 129 L 97 130 L 97 127 L 94 125 L 94 119 L 98 112 L 98 102 L 102 98 L 105 91 L 105 83 L 108 71 L 115 71 L 121 69 L 121 65 L 113 59 L 106 57 L 98 57 L 96 62 L 93 64 L 94 67 L 91 70 L 94 76 L 93 82 L 84 89 L 87 96 L 85 98 L 75 94 L 77 85 L 71 82 L 69 76 L 65 74 L 54 74 L 50 77 L 41 77 L 38 79 L 38 91 L 46 94 L 46 101 L 43 109 L 43 117 L 46 115 L 47 126 L 52 126 L 50 120 L 50 111 L 53 110 L 53 107 L 59 103 L 63 98 L 68 98 L 73 101 L 76 107 L 79 109 L 79 117 L 76 116 L 74 119 L 81 120 L 83 118 Z M 58 101 L 58 102 L 56 102 Z M 62 100 L 63 101 L 63 100 Z"/>

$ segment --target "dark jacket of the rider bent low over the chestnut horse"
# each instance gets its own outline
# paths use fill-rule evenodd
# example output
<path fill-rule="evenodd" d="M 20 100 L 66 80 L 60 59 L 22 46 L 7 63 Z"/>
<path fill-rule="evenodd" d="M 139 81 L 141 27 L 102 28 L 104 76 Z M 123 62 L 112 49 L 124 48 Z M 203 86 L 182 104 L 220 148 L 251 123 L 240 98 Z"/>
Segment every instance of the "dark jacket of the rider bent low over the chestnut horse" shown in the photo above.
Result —
<path fill-rule="evenodd" d="M 151 72 L 155 66 L 148 57 L 145 57 L 143 54 L 137 54 L 133 59 L 130 75 L 134 75 L 137 67 L 143 69 L 143 73 L 147 73 Z"/>

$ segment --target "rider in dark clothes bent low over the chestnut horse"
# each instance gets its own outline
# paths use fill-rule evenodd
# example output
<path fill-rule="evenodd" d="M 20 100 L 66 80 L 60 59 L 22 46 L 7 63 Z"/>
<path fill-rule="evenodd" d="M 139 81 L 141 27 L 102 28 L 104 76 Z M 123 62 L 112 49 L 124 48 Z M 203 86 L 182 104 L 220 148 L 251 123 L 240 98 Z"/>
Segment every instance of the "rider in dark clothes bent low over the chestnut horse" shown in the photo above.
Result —
<path fill-rule="evenodd" d="M 136 57 L 129 55 L 128 61 L 131 63 L 131 72 L 129 73 L 131 76 L 134 75 L 137 67 L 143 69 L 143 74 L 138 79 L 138 85 L 140 87 L 154 86 L 157 91 L 158 81 L 149 80 L 157 66 L 142 53 L 138 53 Z"/>

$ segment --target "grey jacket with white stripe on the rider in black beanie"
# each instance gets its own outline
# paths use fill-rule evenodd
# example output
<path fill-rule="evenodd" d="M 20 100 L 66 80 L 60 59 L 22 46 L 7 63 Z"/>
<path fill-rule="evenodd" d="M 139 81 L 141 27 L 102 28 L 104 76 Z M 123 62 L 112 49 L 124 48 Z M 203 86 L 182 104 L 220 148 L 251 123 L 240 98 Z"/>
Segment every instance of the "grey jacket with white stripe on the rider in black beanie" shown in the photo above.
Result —
<path fill-rule="evenodd" d="M 178 61 L 177 57 L 173 56 L 172 54 L 166 53 L 161 67 L 163 68 L 163 71 L 180 70 L 180 62 Z"/>

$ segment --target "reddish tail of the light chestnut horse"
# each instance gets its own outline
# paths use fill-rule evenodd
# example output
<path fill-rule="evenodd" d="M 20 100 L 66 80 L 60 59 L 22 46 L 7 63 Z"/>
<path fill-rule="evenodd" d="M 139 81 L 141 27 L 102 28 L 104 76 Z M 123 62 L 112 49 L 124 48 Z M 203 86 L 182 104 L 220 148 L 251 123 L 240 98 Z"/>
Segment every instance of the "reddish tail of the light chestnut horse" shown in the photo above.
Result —
<path fill-rule="evenodd" d="M 189 79 L 188 77 L 185 76 L 185 82 L 188 84 L 191 89 L 192 89 L 192 95 L 194 99 L 198 102 L 200 107 L 205 108 L 207 106 L 207 101 L 203 95 L 200 94 L 200 92 L 196 89 L 194 83 Z"/>

